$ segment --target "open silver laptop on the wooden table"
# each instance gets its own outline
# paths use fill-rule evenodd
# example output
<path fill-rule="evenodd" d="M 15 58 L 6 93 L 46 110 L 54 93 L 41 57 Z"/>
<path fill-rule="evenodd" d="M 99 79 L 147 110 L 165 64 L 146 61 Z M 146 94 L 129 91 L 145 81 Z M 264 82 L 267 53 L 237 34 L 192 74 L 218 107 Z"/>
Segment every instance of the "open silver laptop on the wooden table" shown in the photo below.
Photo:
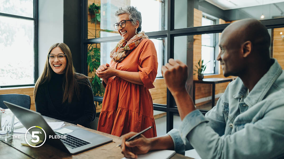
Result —
<path fill-rule="evenodd" d="M 55 136 L 62 134 L 54 132 L 47 124 L 47 122 L 43 119 L 40 113 L 9 103 L 7 101 L 3 102 L 20 120 L 20 122 L 23 124 L 23 126 L 26 129 L 29 129 L 32 126 L 39 126 L 43 128 L 43 130 L 46 133 L 45 143 L 48 143 L 49 145 L 52 145 L 53 147 L 61 149 L 70 154 L 76 154 L 78 152 L 82 152 L 84 150 L 91 149 L 93 147 L 97 147 L 99 145 L 103 145 L 105 143 L 112 141 L 111 138 L 96 133 L 92 133 L 75 126 L 64 127 L 73 130 L 73 132 L 64 134 L 67 135 L 66 139 L 49 139 L 49 135 Z M 60 129 L 62 128 L 55 130 L 60 130 Z M 32 131 L 33 128 L 29 130 L 31 134 Z M 44 138 L 44 133 L 37 135 L 39 136 L 40 139 Z"/>

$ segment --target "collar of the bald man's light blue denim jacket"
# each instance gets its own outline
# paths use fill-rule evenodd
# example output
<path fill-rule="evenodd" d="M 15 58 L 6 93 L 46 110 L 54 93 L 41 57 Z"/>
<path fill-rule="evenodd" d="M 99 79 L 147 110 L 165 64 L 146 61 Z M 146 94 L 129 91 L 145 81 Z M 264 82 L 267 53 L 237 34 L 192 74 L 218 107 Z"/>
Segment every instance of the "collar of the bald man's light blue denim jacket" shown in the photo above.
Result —
<path fill-rule="evenodd" d="M 260 102 L 263 97 L 266 95 L 272 84 L 275 80 L 280 76 L 282 72 L 282 68 L 277 62 L 276 59 L 271 58 L 273 60 L 273 64 L 271 65 L 270 69 L 264 74 L 263 77 L 256 83 L 256 85 L 252 88 L 249 95 L 244 99 L 244 102 L 249 106 L 252 107 L 256 103 Z M 235 94 L 234 98 L 241 98 L 247 92 L 247 87 L 242 83 L 241 88 Z"/>

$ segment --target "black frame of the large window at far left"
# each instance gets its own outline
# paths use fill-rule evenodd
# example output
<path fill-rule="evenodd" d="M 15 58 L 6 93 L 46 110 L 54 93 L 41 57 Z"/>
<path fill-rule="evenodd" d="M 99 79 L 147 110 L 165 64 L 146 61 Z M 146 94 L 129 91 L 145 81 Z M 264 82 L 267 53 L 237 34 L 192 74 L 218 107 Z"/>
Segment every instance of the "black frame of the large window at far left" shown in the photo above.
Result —
<path fill-rule="evenodd" d="M 34 17 L 30 18 L 30 17 L 18 16 L 14 14 L 6 14 L 6 13 L 0 12 L 0 16 L 34 21 L 34 83 L 33 84 L 3 85 L 3 86 L 0 86 L 0 88 L 34 86 L 37 81 L 37 78 L 38 78 L 38 0 L 34 0 L 33 14 L 34 14 Z"/>

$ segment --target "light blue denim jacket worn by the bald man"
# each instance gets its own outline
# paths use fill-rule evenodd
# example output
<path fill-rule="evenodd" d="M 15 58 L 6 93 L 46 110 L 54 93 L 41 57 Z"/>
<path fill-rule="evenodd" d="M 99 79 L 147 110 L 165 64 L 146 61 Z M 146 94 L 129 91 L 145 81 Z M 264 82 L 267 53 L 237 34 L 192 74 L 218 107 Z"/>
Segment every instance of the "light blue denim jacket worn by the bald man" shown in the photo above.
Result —
<path fill-rule="evenodd" d="M 205 158 L 284 158 L 284 71 L 277 60 L 247 97 L 242 80 L 229 83 L 217 105 L 195 110 L 168 132 L 175 150 Z"/>

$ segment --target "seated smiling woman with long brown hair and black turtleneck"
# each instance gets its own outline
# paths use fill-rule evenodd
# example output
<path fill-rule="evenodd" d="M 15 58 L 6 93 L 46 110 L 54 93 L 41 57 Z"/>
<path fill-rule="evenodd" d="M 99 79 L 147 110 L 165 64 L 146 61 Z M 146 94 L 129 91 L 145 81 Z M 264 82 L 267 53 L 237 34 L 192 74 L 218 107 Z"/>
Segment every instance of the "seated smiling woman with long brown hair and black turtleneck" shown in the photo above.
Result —
<path fill-rule="evenodd" d="M 95 106 L 88 78 L 75 72 L 72 54 L 66 44 L 53 44 L 43 73 L 35 85 L 36 111 L 44 116 L 90 127 Z"/>

